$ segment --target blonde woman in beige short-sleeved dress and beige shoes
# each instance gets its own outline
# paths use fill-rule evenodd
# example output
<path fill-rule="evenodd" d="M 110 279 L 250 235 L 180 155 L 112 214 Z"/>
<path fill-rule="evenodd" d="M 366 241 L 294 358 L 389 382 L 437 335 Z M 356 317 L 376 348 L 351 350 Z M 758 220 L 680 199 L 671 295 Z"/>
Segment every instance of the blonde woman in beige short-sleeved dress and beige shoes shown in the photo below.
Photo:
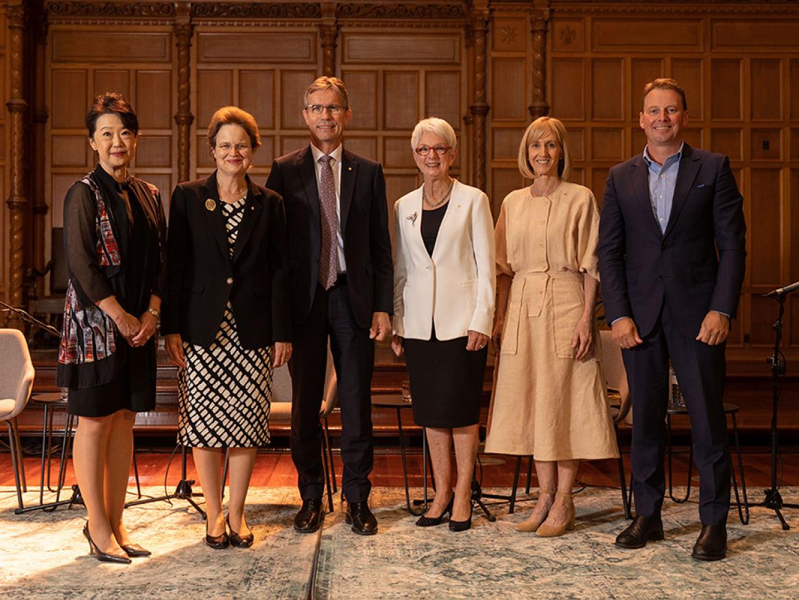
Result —
<path fill-rule="evenodd" d="M 551 537 L 574 527 L 578 461 L 618 457 L 594 344 L 599 212 L 590 190 L 566 181 L 558 119 L 527 127 L 519 171 L 533 183 L 507 195 L 495 229 L 499 362 L 486 452 L 535 457 L 539 500 L 516 529 Z"/>

